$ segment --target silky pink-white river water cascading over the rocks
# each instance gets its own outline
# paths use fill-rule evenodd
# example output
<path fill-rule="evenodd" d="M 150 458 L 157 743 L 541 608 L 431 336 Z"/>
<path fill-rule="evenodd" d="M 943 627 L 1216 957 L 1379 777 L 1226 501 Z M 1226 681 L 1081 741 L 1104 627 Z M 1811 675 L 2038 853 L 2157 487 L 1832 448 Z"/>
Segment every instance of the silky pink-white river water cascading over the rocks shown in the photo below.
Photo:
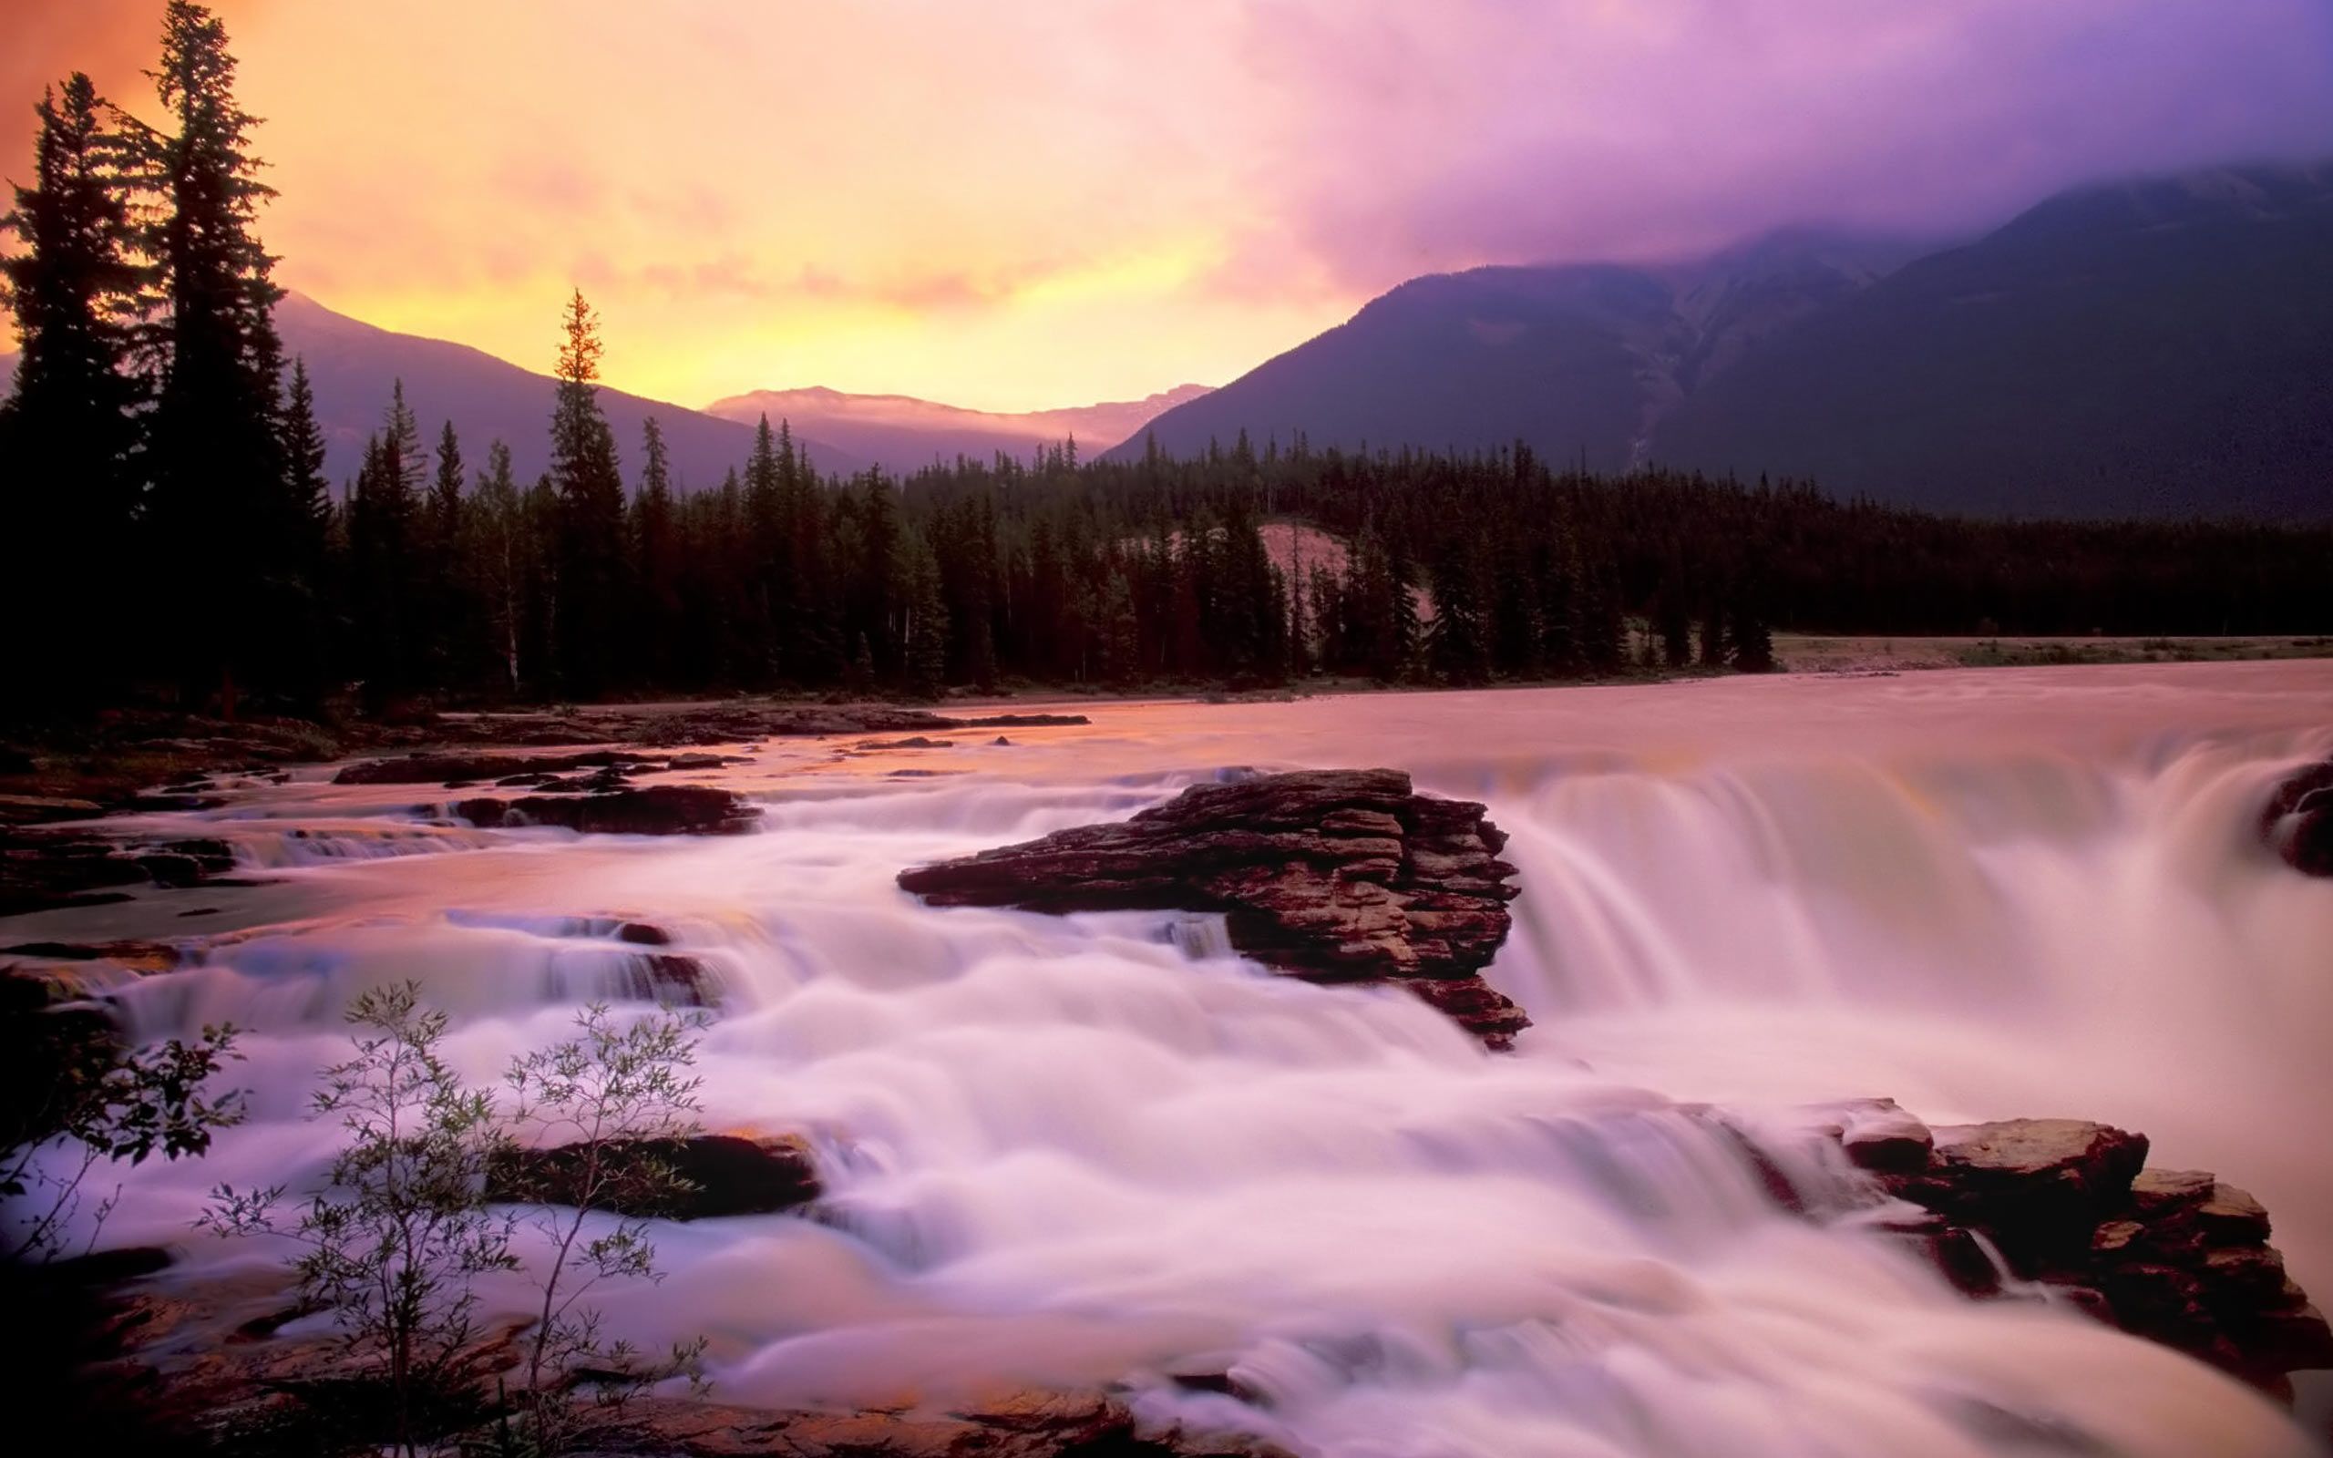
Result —
<path fill-rule="evenodd" d="M 203 935 L 203 966 L 119 991 L 128 1019 L 254 1029 L 254 1120 L 135 1171 L 105 1239 L 254 1260 L 189 1220 L 329 1157 L 301 1101 L 355 991 L 418 977 L 485 1078 L 579 1001 L 656 991 L 630 917 L 719 984 L 707 1122 L 807 1131 L 833 1190 L 817 1222 L 663 1227 L 670 1276 L 602 1302 L 642 1341 L 707 1334 L 730 1402 L 1127 1383 L 1355 1458 L 2314 1451 L 2200 1365 L 1778 1211 L 1738 1131 L 1820 1187 L 1810 1101 L 2118 1122 L 2261 1194 L 2333 1292 L 2333 884 L 2251 830 L 2333 751 L 2333 665 L 1090 712 L 747 746 L 698 777 L 763 802 L 737 840 L 429 828 L 436 791 L 324 770 L 156 816 L 271 884 L 5 926 Z M 1264 975 L 1206 921 L 891 884 L 1295 765 L 1491 802 L 1523 896 L 1488 977 L 1537 1019 L 1512 1057 L 1402 994 Z M 1171 1381 L 1222 1372 L 1267 1402 Z"/>

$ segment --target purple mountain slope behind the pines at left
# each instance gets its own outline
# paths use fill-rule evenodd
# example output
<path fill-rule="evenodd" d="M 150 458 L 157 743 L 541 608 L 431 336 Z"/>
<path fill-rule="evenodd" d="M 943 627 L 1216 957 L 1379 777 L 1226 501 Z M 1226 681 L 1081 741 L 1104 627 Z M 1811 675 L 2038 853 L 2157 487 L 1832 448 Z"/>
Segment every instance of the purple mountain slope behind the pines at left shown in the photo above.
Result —
<path fill-rule="evenodd" d="M 364 439 L 380 429 L 390 387 L 406 383 L 406 404 L 420 418 L 422 439 L 436 446 L 439 427 L 453 420 L 462 436 L 462 457 L 471 469 L 485 462 L 490 441 L 511 446 L 520 485 L 532 483 L 551 464 L 551 376 L 518 369 L 469 345 L 455 345 L 415 334 L 392 334 L 338 315 L 315 299 L 287 294 L 275 306 L 275 329 L 285 357 L 308 362 L 315 383 L 315 411 L 324 425 L 329 457 L 324 471 L 334 485 L 357 474 Z M 735 420 L 702 415 L 686 406 L 660 404 L 600 390 L 600 408 L 616 429 L 625 476 L 639 469 L 639 427 L 656 415 L 672 450 L 672 478 L 679 488 L 719 485 L 721 476 L 744 464 L 754 432 Z M 775 420 L 775 418 L 772 418 Z M 866 462 L 805 432 L 793 439 L 810 450 L 821 471 L 861 471 Z"/>

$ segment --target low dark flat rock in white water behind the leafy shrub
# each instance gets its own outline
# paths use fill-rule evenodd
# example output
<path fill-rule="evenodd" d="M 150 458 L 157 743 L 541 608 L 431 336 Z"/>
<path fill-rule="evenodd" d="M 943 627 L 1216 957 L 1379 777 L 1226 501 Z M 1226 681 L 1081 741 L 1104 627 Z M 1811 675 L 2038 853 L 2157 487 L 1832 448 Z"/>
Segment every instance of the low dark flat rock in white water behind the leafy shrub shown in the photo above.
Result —
<path fill-rule="evenodd" d="M 604 1159 L 656 1162 L 686 1190 L 665 1199 L 616 1199 L 616 1215 L 663 1220 L 709 1220 L 716 1215 L 777 1215 L 819 1197 L 819 1171 L 800 1138 L 742 1138 L 698 1134 L 691 1138 L 614 1141 Z M 488 1199 L 511 1204 L 574 1204 L 583 1145 L 518 1150 L 488 1173 Z"/>

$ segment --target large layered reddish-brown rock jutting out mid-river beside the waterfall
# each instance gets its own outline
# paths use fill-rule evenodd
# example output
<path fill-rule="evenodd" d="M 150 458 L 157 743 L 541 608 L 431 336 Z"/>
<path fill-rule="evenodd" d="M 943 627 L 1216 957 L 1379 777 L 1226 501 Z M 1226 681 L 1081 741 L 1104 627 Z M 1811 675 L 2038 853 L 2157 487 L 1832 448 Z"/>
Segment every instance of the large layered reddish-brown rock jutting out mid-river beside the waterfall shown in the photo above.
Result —
<path fill-rule="evenodd" d="M 933 905 L 1222 912 L 1232 945 L 1306 982 L 1411 989 L 1491 1047 L 1530 1026 L 1477 973 L 1507 940 L 1507 837 L 1400 770 L 1199 784 L 1129 821 L 917 865 Z"/>

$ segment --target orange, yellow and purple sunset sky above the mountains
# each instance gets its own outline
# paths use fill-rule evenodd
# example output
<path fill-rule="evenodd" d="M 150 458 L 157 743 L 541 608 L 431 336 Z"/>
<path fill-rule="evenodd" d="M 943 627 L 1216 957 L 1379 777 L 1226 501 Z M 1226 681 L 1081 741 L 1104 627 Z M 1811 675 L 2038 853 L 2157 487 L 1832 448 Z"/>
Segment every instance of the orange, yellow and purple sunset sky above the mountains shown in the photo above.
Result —
<path fill-rule="evenodd" d="M 289 287 L 705 404 L 1222 383 L 1402 278 L 2333 152 L 2324 0 L 226 0 Z M 156 117 L 159 0 L 5 0 Z"/>

